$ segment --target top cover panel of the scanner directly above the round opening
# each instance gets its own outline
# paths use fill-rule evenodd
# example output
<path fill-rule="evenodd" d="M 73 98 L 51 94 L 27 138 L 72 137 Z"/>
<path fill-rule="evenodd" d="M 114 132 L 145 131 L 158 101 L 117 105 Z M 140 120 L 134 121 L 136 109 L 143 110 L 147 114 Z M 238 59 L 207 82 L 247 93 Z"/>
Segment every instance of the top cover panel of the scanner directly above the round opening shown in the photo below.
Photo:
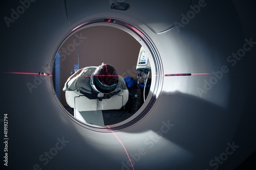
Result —
<path fill-rule="evenodd" d="M 67 0 L 68 19 L 70 23 L 95 13 L 109 13 L 109 16 L 118 17 L 122 14 L 137 18 L 154 32 L 161 32 L 170 28 L 181 13 L 185 13 L 189 7 L 190 0 L 180 1 L 117 1 L 131 5 L 126 11 L 112 10 L 111 3 L 114 1 L 79 1 Z M 150 13 L 148 13 L 150 11 Z M 158 12 L 161 11 L 161 12 Z"/>

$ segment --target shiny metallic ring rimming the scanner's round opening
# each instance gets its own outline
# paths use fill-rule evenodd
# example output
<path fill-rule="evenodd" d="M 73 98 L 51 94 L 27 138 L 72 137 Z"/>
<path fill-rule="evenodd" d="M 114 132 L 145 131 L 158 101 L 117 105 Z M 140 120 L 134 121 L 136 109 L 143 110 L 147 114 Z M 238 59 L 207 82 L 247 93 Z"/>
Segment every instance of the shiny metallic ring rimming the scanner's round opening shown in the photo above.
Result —
<path fill-rule="evenodd" d="M 139 122 L 139 120 L 141 120 L 150 110 L 151 108 L 154 106 L 154 104 L 157 101 L 157 98 L 161 92 L 162 89 L 162 82 L 163 82 L 163 68 L 162 68 L 162 63 L 161 63 L 161 58 L 159 56 L 159 53 L 156 49 L 156 46 L 154 45 L 153 41 L 150 39 L 150 37 L 148 37 L 142 30 L 140 30 L 139 28 L 136 28 L 135 26 L 131 25 L 130 23 L 127 23 L 125 21 L 119 20 L 119 19 L 112 19 L 112 18 L 97 18 L 97 19 L 92 19 L 92 20 L 88 20 L 85 21 L 83 23 L 81 23 L 80 25 L 74 27 L 74 29 L 72 29 L 70 32 L 68 32 L 66 34 L 65 37 L 62 38 L 62 40 L 59 42 L 55 53 L 53 55 L 53 59 L 51 62 L 51 68 L 53 68 L 53 63 L 55 60 L 55 56 L 58 52 L 58 49 L 60 48 L 61 44 L 74 32 L 76 32 L 78 29 L 80 30 L 81 28 L 85 27 L 85 26 L 89 26 L 89 25 L 94 25 L 94 24 L 98 24 L 98 23 L 103 23 L 103 24 L 108 24 L 110 23 L 111 25 L 118 25 L 121 26 L 121 28 L 125 28 L 128 29 L 130 31 L 132 31 L 133 33 L 135 33 L 138 37 L 140 37 L 142 39 L 142 41 L 147 45 L 148 49 L 150 50 L 153 60 L 154 60 L 154 64 L 155 64 L 155 71 L 156 71 L 156 76 L 155 77 L 155 87 L 153 87 L 154 89 L 152 97 L 150 99 L 150 101 L 148 101 L 147 103 L 144 103 L 143 105 L 146 104 L 145 108 L 140 111 L 140 113 L 138 114 L 138 116 L 134 117 L 132 120 L 130 120 L 129 122 L 126 122 L 122 125 L 118 125 L 115 126 L 111 125 L 111 129 L 112 131 L 119 131 L 125 128 L 128 128 L 134 124 L 136 124 L 137 122 Z M 52 84 L 52 89 L 53 92 L 54 88 L 53 88 L 53 81 L 51 80 L 51 84 Z M 93 130 L 93 131 L 98 131 L 98 132 L 112 132 L 107 126 L 105 127 L 94 127 L 90 124 L 86 124 L 81 122 L 80 120 L 77 120 L 74 116 L 70 115 L 67 110 L 65 108 L 62 107 L 61 103 L 59 102 L 59 100 L 57 99 L 57 96 L 55 95 L 57 102 L 59 103 L 59 105 L 61 106 L 62 110 L 69 115 L 69 117 L 71 117 L 77 124 L 79 124 L 80 126 L 83 126 L 84 128 Z M 124 120 L 125 121 L 125 120 Z M 119 123 L 120 124 L 120 123 Z"/>

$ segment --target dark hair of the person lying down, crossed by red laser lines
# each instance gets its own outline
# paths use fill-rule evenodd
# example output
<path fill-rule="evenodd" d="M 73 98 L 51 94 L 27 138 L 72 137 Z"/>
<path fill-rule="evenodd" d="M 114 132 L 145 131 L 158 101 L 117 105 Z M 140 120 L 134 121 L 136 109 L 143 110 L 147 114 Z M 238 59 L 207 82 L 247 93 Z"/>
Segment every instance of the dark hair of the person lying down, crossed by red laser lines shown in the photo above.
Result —
<path fill-rule="evenodd" d="M 98 80 L 108 86 L 118 83 L 118 74 L 116 69 L 110 64 L 100 65 L 95 71 L 94 75 L 97 76 Z"/>

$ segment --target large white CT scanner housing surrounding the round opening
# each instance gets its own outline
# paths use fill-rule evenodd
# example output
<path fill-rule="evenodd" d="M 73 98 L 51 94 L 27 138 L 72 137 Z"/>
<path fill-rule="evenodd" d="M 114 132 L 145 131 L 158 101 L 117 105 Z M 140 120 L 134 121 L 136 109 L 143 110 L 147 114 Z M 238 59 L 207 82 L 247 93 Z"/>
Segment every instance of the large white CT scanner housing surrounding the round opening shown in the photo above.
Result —
<path fill-rule="evenodd" d="M 254 1 L 3 4 L 1 167 L 235 169 L 255 152 Z M 145 104 L 108 127 L 70 116 L 51 76 L 61 43 L 97 25 L 131 34 L 152 67 Z"/>

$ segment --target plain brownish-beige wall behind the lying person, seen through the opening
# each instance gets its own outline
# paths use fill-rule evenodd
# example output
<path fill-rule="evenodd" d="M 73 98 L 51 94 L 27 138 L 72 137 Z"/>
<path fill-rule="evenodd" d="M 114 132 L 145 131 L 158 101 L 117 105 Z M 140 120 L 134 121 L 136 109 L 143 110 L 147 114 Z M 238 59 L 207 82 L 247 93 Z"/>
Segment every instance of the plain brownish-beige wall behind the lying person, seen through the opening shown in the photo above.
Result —
<path fill-rule="evenodd" d="M 79 68 L 113 65 L 123 78 L 137 78 L 136 63 L 140 43 L 128 33 L 108 26 L 94 26 L 76 33 L 84 40 L 79 44 Z M 70 36 L 60 47 L 60 102 L 67 105 L 62 88 L 77 64 L 77 40 Z M 74 41 L 75 40 L 75 41 Z M 66 49 L 66 50 L 65 50 Z"/>

